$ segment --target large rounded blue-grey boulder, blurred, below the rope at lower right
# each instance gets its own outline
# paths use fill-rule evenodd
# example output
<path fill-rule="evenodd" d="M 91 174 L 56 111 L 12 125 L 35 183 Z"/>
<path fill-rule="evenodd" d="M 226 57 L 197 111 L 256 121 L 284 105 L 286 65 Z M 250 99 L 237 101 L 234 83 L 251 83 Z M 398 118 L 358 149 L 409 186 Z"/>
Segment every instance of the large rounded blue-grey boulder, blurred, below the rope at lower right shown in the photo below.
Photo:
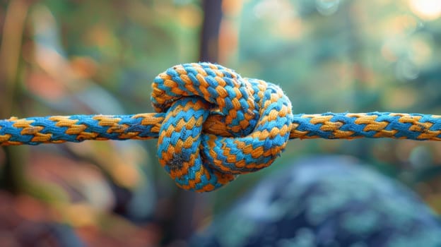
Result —
<path fill-rule="evenodd" d="M 441 225 L 358 160 L 312 157 L 261 181 L 191 246 L 441 246 Z"/>

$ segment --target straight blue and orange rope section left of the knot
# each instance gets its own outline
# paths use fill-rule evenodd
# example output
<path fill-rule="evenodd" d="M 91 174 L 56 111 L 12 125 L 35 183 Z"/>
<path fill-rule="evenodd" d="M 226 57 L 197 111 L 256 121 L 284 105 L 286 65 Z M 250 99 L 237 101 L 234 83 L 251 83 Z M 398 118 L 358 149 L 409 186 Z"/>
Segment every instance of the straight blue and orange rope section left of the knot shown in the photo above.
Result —
<path fill-rule="evenodd" d="M 45 116 L 0 121 L 0 145 L 158 138 L 165 114 Z"/>

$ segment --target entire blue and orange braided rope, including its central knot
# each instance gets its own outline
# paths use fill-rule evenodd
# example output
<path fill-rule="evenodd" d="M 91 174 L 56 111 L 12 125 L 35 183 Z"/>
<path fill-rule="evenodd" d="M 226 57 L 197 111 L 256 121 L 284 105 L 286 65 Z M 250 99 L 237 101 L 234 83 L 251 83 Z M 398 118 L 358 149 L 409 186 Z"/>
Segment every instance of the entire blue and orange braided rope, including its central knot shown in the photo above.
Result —
<path fill-rule="evenodd" d="M 158 138 L 160 164 L 178 186 L 213 191 L 268 167 L 289 139 L 441 140 L 438 115 L 293 115 L 277 85 L 217 64 L 169 68 L 155 78 L 151 100 L 157 113 L 0 120 L 0 145 Z"/>

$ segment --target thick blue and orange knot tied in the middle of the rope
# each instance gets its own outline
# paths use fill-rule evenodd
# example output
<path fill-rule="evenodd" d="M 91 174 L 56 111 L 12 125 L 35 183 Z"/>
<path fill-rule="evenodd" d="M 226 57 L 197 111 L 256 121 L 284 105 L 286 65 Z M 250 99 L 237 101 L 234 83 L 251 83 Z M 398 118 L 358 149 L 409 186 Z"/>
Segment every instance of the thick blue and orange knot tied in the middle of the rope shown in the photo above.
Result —
<path fill-rule="evenodd" d="M 160 73 L 151 95 L 160 128 L 160 164 L 181 188 L 213 191 L 238 174 L 268 167 L 288 143 L 291 104 L 281 88 L 217 64 L 182 64 Z M 204 133 L 216 116 L 225 135 Z"/>

